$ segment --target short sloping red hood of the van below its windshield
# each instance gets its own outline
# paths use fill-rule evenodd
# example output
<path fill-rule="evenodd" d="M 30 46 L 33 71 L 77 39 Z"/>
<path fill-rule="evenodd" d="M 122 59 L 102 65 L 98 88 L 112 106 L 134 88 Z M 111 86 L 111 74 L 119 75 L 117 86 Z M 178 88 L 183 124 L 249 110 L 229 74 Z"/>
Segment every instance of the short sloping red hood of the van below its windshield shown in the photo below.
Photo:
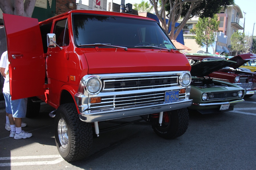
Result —
<path fill-rule="evenodd" d="M 184 54 L 167 50 L 109 49 L 84 52 L 88 74 L 190 71 Z"/>

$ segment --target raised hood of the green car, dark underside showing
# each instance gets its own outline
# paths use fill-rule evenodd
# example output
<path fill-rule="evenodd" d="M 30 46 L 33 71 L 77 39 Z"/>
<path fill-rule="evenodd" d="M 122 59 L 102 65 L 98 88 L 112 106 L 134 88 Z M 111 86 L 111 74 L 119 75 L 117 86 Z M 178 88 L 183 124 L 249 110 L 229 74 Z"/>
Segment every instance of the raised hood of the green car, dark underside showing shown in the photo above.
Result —
<path fill-rule="evenodd" d="M 229 61 L 226 59 L 214 59 L 214 60 L 206 60 L 200 61 L 199 63 L 195 63 L 191 65 L 191 75 L 197 77 L 204 77 L 209 75 L 210 73 L 222 69 L 223 67 L 227 67 L 229 65 L 235 64 L 235 61 Z"/>

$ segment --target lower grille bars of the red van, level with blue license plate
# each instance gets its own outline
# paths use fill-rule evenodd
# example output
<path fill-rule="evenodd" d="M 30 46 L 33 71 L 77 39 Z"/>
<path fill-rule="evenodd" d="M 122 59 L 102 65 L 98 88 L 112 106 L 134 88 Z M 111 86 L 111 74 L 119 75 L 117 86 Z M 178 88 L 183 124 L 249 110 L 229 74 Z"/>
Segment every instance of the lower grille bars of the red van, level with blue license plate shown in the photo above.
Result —
<path fill-rule="evenodd" d="M 165 91 L 148 92 L 139 94 L 111 95 L 101 98 L 101 103 L 90 104 L 90 110 L 104 110 L 113 108 L 125 108 L 141 105 L 152 105 L 155 103 L 163 103 Z M 185 99 L 185 93 L 179 94 L 179 99 Z"/>

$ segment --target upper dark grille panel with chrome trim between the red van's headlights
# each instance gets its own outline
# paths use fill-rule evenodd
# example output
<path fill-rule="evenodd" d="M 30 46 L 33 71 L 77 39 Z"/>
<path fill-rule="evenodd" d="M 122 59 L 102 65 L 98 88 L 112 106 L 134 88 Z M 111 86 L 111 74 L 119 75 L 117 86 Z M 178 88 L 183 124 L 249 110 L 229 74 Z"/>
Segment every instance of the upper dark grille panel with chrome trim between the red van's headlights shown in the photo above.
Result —
<path fill-rule="evenodd" d="M 144 75 L 122 78 L 102 78 L 102 92 L 120 92 L 177 86 L 178 75 Z"/>

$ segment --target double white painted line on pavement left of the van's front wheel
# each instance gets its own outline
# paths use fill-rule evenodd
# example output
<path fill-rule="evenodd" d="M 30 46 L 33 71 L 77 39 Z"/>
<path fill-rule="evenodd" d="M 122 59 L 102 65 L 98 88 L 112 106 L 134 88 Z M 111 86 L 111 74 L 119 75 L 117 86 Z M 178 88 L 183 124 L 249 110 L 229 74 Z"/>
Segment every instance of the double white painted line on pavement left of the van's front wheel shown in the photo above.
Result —
<path fill-rule="evenodd" d="M 11 162 L 11 163 L 0 163 L 0 167 L 3 166 L 24 166 L 24 165 L 49 165 L 56 164 L 64 161 L 60 155 L 42 155 L 42 156 L 16 156 L 16 157 L 0 157 L 0 160 L 22 160 L 22 159 L 42 159 L 42 158 L 58 158 L 53 161 L 32 161 L 32 162 Z"/>

